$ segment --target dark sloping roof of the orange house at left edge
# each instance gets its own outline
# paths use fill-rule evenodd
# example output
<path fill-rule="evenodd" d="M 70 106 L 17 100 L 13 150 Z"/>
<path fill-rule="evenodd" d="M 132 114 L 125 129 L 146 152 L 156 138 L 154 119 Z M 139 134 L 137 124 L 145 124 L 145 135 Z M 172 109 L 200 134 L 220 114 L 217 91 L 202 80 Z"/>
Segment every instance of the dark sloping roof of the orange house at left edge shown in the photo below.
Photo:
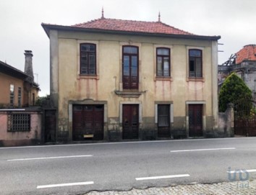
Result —
<path fill-rule="evenodd" d="M 26 73 L 18 70 L 17 68 L 12 67 L 12 65 L 8 65 L 7 63 L 4 63 L 2 61 L 0 61 L 0 72 L 5 73 L 9 76 L 20 78 L 22 80 L 25 80 L 28 77 Z"/>

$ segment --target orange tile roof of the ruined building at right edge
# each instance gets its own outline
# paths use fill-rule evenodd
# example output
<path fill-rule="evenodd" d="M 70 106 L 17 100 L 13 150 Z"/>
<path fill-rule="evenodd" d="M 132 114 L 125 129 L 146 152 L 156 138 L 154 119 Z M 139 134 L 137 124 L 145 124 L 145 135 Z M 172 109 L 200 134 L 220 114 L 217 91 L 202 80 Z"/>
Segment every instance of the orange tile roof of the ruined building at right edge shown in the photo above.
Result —
<path fill-rule="evenodd" d="M 242 63 L 244 60 L 256 61 L 256 45 L 245 45 L 236 53 L 236 64 Z"/>

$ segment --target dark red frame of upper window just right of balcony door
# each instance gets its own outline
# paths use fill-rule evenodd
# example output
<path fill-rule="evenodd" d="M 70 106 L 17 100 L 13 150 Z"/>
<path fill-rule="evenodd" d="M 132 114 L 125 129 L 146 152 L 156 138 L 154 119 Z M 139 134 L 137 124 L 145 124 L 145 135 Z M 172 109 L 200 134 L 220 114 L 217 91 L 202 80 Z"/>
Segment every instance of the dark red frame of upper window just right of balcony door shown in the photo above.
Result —
<path fill-rule="evenodd" d="M 158 55 L 158 50 L 168 50 L 168 55 Z M 171 49 L 168 47 L 155 47 L 155 75 L 157 78 L 171 78 Z M 162 58 L 162 75 L 158 75 L 158 57 Z M 168 57 L 168 76 L 164 76 L 164 58 Z"/>

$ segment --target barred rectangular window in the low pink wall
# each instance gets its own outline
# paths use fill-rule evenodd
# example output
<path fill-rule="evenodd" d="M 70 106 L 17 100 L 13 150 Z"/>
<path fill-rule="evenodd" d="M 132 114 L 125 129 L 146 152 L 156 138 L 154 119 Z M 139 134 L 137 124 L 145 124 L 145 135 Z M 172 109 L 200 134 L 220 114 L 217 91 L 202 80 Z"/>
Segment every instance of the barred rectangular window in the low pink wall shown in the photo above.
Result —
<path fill-rule="evenodd" d="M 9 132 L 30 131 L 30 114 L 10 114 L 8 124 Z"/>

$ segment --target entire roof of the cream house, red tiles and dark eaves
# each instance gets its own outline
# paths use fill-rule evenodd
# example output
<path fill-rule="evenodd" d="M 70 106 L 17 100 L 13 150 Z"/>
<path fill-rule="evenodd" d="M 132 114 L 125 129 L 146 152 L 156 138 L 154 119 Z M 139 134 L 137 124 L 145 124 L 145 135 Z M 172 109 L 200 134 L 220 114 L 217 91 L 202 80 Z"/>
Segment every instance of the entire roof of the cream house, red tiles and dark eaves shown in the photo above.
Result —
<path fill-rule="evenodd" d="M 161 37 L 181 37 L 188 39 L 200 40 L 219 40 L 221 36 L 201 36 L 194 35 L 184 30 L 179 30 L 171 27 L 163 22 L 142 22 L 122 19 L 106 19 L 101 17 L 89 22 L 74 24 L 72 26 L 63 26 L 56 24 L 42 23 L 43 29 L 49 36 L 50 30 L 69 30 L 82 32 L 103 32 L 111 34 L 125 34 L 125 35 L 150 35 Z"/>

